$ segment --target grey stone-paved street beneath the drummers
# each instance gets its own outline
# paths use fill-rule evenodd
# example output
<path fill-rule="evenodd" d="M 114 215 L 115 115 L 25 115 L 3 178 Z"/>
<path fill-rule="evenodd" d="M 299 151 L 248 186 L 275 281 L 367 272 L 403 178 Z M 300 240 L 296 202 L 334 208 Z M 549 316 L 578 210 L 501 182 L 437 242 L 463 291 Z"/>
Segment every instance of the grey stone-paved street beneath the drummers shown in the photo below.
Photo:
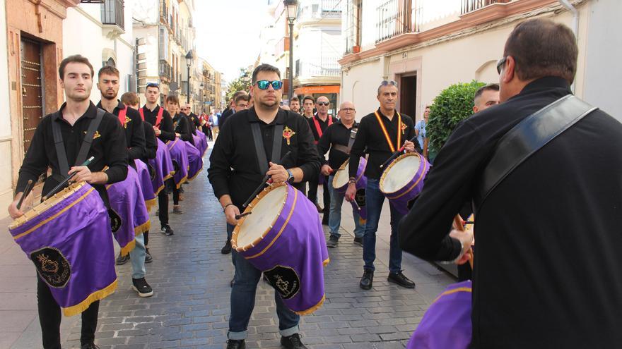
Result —
<path fill-rule="evenodd" d="M 160 234 L 158 219 L 152 215 L 149 250 L 154 260 L 146 267 L 153 297 L 139 298 L 131 290 L 129 263 L 117 267 L 119 288 L 100 306 L 96 334 L 100 348 L 225 348 L 233 265 L 230 255 L 220 253 L 225 220 L 207 180 L 208 156 L 203 173 L 185 186 L 184 214 L 170 214 L 175 235 Z M 387 282 L 390 232 L 389 207 L 385 206 L 374 288 L 361 290 L 363 249 L 352 242 L 353 221 L 346 204 L 343 235 L 339 246 L 329 249 L 331 263 L 324 270 L 327 301 L 302 318 L 303 342 L 314 349 L 404 348 L 429 303 L 454 281 L 427 262 L 404 254 L 404 274 L 417 283 L 416 288 L 407 290 Z M 8 220 L 0 224 L 6 227 Z M 0 275 L 4 276 L 0 348 L 40 348 L 35 269 L 4 230 L 0 237 Z M 280 348 L 274 310 L 274 290 L 259 281 L 247 348 Z M 63 319 L 63 348 L 79 348 L 79 318 Z"/>

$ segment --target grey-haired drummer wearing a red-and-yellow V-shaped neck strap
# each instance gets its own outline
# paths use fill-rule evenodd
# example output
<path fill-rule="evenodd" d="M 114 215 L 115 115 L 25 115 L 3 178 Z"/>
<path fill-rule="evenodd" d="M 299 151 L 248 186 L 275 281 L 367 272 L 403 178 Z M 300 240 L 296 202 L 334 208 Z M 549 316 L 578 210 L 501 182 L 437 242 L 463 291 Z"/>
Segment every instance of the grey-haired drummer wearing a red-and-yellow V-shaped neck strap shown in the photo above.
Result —
<path fill-rule="evenodd" d="M 346 197 L 353 200 L 356 192 L 354 185 L 356 169 L 363 152 L 369 154 L 365 176 L 367 187 L 365 188 L 365 206 L 367 208 L 367 224 L 363 237 L 363 277 L 360 278 L 360 288 L 369 290 L 372 288 L 374 279 L 374 260 L 376 259 L 376 231 L 380 221 L 382 204 L 385 196 L 380 192 L 380 176 L 382 165 L 393 152 L 404 145 L 406 152 L 414 152 L 415 145 L 411 140 L 415 135 L 413 120 L 410 116 L 399 114 L 395 110 L 397 102 L 397 83 L 394 81 L 382 81 L 378 87 L 377 99 L 380 108 L 377 111 L 363 116 L 360 120 L 356 140 L 350 152 L 350 183 L 346 191 Z M 393 205 L 391 209 L 391 241 L 389 247 L 389 282 L 399 286 L 414 288 L 415 283 L 406 278 L 401 272 L 401 249 L 397 237 L 397 224 L 402 217 Z"/>

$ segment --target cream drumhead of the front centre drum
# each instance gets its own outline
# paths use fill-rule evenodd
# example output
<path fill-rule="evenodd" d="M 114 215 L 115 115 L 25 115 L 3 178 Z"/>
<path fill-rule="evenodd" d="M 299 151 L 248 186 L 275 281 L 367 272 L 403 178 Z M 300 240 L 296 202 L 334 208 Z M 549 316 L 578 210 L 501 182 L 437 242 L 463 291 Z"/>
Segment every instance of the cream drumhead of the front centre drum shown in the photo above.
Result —
<path fill-rule="evenodd" d="M 271 229 L 287 198 L 287 185 L 271 188 L 261 197 L 257 204 L 250 209 L 252 214 L 245 216 L 238 226 L 237 247 L 250 248 L 251 244 L 264 237 Z"/>

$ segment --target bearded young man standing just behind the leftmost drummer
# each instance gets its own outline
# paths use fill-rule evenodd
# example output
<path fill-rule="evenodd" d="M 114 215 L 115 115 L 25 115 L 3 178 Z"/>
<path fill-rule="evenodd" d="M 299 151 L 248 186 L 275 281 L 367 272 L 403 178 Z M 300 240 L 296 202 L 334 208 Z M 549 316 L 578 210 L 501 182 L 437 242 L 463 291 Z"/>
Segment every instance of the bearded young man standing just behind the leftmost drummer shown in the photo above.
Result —
<path fill-rule="evenodd" d="M 114 114 L 119 119 L 119 123 L 125 130 L 129 165 L 136 169 L 134 160 L 141 159 L 144 156 L 146 147 L 145 130 L 141 115 L 138 111 L 128 108 L 117 99 L 117 94 L 119 94 L 119 71 L 117 68 L 103 66 L 98 72 L 97 86 L 102 94 L 98 108 Z M 139 197 L 138 200 L 143 200 L 143 198 Z M 117 264 L 124 264 L 124 262 L 127 262 L 127 259 L 131 259 L 131 283 L 134 286 L 134 290 L 141 297 L 151 297 L 153 290 L 145 279 L 145 238 L 143 234 L 139 234 L 136 235 L 134 240 L 136 241 L 135 247 L 126 256 L 122 256 L 119 253 Z"/>

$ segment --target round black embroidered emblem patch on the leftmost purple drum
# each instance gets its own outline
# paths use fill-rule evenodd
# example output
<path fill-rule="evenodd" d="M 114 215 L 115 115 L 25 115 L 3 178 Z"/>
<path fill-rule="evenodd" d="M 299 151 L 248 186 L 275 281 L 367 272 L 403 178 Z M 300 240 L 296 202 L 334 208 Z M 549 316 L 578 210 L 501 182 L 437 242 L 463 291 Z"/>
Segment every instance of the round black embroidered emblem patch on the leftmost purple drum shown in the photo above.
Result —
<path fill-rule="evenodd" d="M 43 247 L 30 253 L 37 272 L 53 288 L 63 288 L 69 282 L 71 266 L 60 250 L 54 247 Z"/>

